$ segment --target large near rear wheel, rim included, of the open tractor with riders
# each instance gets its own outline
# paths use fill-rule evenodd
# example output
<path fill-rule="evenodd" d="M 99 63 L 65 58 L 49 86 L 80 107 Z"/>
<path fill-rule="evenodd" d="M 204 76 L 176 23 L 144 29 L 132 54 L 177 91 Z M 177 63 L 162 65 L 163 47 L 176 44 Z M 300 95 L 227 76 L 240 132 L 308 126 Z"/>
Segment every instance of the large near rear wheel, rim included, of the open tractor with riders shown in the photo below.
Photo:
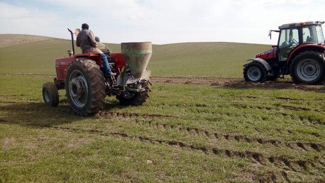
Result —
<path fill-rule="evenodd" d="M 105 106 L 106 86 L 103 72 L 90 59 L 77 58 L 66 76 L 68 101 L 79 116 L 92 116 Z"/>

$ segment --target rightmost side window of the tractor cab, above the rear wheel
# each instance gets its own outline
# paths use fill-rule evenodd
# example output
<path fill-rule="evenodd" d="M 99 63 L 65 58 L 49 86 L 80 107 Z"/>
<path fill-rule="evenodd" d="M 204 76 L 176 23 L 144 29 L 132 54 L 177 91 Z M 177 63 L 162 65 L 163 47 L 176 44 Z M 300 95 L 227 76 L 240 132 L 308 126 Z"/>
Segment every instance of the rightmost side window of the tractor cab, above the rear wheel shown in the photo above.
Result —
<path fill-rule="evenodd" d="M 303 28 L 304 43 L 324 43 L 323 31 L 320 25 L 310 25 Z"/>

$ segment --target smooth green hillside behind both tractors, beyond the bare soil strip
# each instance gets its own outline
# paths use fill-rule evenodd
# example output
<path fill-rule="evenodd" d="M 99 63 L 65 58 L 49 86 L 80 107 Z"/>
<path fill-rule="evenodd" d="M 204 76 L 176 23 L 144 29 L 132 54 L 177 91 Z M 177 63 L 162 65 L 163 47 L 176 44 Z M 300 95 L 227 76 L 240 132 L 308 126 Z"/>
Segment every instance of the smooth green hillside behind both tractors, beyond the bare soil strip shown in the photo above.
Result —
<path fill-rule="evenodd" d="M 2 34 L 0 42 L 5 38 Z M 71 49 L 70 40 L 25 40 L 1 48 L 0 73 L 55 74 L 54 59 L 67 56 L 67 50 Z M 113 52 L 120 52 L 119 44 L 107 45 Z M 245 60 L 268 48 L 269 45 L 218 42 L 153 45 L 149 68 L 154 76 L 241 77 Z M 76 50 L 80 53 L 79 48 Z"/>

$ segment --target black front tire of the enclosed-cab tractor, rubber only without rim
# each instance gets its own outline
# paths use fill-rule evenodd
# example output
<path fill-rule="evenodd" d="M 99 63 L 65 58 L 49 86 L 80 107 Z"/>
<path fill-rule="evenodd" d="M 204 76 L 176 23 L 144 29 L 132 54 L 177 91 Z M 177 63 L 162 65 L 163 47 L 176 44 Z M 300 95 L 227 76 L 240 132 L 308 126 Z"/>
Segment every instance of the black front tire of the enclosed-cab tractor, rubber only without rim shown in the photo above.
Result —
<path fill-rule="evenodd" d="M 259 72 L 261 73 L 261 76 L 258 77 L 258 79 L 256 80 L 252 80 L 251 77 L 249 77 L 249 71 L 251 68 L 257 68 L 259 70 Z M 253 83 L 263 83 L 267 80 L 267 70 L 266 68 L 264 67 L 264 65 L 262 63 L 259 63 L 259 62 L 256 62 L 256 61 L 252 61 L 250 63 L 248 63 L 245 68 L 244 68 L 244 72 L 243 72 L 243 75 L 244 75 L 244 79 L 245 81 L 247 82 L 253 82 Z"/>

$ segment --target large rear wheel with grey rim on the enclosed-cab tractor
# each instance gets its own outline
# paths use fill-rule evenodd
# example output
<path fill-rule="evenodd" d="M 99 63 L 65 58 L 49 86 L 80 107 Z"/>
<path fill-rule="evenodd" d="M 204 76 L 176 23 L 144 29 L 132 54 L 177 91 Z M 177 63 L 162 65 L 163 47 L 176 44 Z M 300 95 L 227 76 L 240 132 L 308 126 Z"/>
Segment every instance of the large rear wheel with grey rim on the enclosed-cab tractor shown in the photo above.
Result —
<path fill-rule="evenodd" d="M 297 55 L 291 64 L 290 76 L 296 84 L 321 84 L 325 80 L 325 58 L 317 51 Z"/>

